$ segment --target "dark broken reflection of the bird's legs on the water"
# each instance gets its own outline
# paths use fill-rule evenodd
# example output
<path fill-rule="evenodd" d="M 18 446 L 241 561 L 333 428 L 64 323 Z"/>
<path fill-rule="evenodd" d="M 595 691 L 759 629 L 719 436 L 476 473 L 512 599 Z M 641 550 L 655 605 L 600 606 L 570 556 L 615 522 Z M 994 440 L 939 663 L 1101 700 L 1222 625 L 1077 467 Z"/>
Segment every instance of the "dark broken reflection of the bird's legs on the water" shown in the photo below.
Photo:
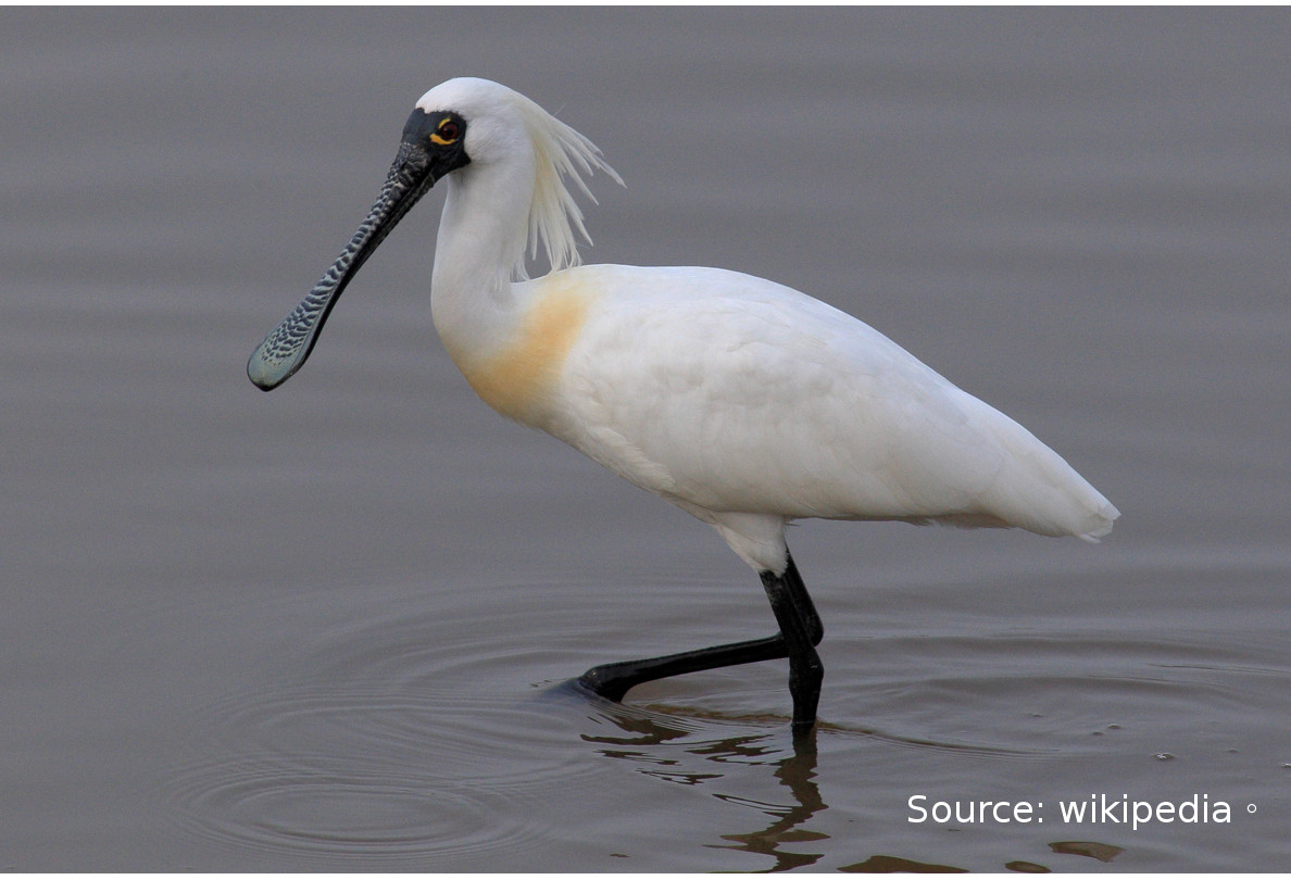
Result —
<path fill-rule="evenodd" d="M 616 711 L 617 710 L 617 711 Z M 638 768 L 646 775 L 680 785 L 717 783 L 726 777 L 720 768 L 696 770 L 684 765 L 684 757 L 667 757 L 653 747 L 693 737 L 695 732 L 670 716 L 644 715 L 630 708 L 615 707 L 602 715 L 622 734 L 584 734 L 584 739 L 605 746 L 605 757 L 629 760 L 647 766 Z M 816 785 L 816 730 L 793 737 L 791 752 L 785 754 L 777 745 L 781 734 L 742 733 L 722 739 L 704 739 L 683 745 L 684 755 L 693 755 L 715 765 L 737 763 L 773 768 L 771 777 L 778 781 L 788 797 L 772 803 L 715 791 L 713 796 L 727 804 L 747 806 L 764 819 L 751 831 L 723 834 L 729 845 L 709 844 L 710 849 L 767 855 L 773 865 L 767 871 L 789 871 L 815 865 L 824 852 L 802 853 L 784 849 L 785 844 L 809 844 L 829 840 L 829 835 L 803 827 L 817 813 L 829 808 Z M 769 819 L 769 823 L 767 823 Z"/>

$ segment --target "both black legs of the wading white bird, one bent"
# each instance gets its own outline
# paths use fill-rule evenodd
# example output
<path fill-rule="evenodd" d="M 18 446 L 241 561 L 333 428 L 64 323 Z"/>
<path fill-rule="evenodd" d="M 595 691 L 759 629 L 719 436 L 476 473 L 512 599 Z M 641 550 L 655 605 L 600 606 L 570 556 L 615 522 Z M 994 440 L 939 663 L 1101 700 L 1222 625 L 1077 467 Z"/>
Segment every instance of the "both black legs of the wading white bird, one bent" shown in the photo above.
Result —
<path fill-rule="evenodd" d="M 646 681 L 788 657 L 789 693 L 794 698 L 794 732 L 809 730 L 816 723 L 820 683 L 825 675 L 825 667 L 816 653 L 816 645 L 825 636 L 825 628 L 807 594 L 807 586 L 798 574 L 793 556 L 789 557 L 784 574 L 763 572 L 762 586 L 767 591 L 767 599 L 771 600 L 776 623 L 780 625 L 778 635 L 666 657 L 605 663 L 584 672 L 578 684 L 617 702 L 630 689 Z"/>

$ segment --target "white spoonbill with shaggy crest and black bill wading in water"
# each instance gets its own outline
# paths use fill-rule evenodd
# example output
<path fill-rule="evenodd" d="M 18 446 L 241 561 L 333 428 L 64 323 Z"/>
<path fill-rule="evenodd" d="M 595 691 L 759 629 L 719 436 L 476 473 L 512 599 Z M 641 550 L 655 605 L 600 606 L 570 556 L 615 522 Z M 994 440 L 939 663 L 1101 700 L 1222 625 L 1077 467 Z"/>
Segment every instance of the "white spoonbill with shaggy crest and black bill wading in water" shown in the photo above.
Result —
<path fill-rule="evenodd" d="M 454 79 L 417 102 L 381 196 L 349 246 L 266 337 L 248 375 L 269 391 L 309 356 L 345 285 L 448 178 L 435 328 L 475 392 L 714 526 L 757 570 L 780 632 L 598 666 L 609 699 L 642 681 L 789 658 L 793 729 L 809 730 L 824 630 L 791 520 L 1016 526 L 1088 541 L 1119 515 L 1065 461 L 855 317 L 719 268 L 581 266 L 568 183 L 618 175 L 584 135 L 497 83 Z M 525 246 L 551 272 L 529 280 Z"/>

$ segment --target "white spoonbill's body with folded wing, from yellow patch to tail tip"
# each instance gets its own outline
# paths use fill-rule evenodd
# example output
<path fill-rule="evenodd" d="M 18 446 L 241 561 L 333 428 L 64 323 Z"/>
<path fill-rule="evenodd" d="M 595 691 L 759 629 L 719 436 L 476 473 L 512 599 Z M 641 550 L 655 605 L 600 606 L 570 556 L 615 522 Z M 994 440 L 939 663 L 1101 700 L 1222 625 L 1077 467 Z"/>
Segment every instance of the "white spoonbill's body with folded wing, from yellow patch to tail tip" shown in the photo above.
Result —
<path fill-rule="evenodd" d="M 686 507 L 1106 534 L 1048 446 L 866 324 L 714 268 L 586 266 L 553 434 Z"/>

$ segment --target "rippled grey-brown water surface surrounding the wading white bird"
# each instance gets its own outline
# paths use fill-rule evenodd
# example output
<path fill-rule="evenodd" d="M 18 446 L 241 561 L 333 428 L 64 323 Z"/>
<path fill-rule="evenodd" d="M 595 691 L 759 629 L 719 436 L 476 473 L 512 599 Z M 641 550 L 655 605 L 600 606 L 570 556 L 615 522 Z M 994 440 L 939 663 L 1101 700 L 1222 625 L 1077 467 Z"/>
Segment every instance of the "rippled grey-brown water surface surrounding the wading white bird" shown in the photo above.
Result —
<path fill-rule="evenodd" d="M 1282 9 L 0 12 L 0 866 L 1291 870 L 1288 44 Z M 569 690 L 773 622 L 707 526 L 474 397 L 442 192 L 289 385 L 244 375 L 467 74 L 625 178 L 589 261 L 860 316 L 1117 530 L 794 529 L 798 746 L 782 663 Z"/>

